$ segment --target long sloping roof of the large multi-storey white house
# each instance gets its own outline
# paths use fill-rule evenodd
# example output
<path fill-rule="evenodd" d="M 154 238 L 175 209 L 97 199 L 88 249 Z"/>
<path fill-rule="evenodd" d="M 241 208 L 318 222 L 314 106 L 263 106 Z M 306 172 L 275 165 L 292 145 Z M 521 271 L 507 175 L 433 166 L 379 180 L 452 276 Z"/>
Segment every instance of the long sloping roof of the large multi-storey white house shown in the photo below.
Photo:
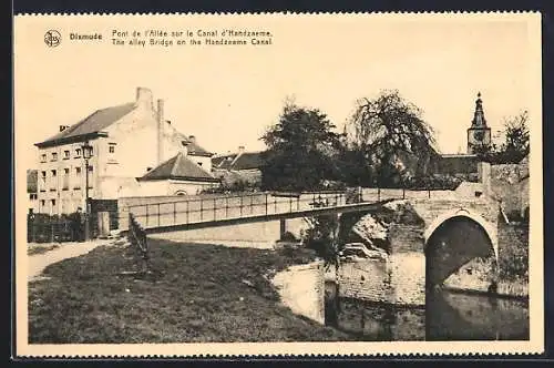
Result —
<path fill-rule="evenodd" d="M 79 137 L 99 133 L 112 125 L 135 109 L 135 103 L 130 102 L 117 106 L 98 110 L 76 124 L 73 124 L 50 139 L 37 143 L 35 145 L 48 146 L 62 144 Z"/>

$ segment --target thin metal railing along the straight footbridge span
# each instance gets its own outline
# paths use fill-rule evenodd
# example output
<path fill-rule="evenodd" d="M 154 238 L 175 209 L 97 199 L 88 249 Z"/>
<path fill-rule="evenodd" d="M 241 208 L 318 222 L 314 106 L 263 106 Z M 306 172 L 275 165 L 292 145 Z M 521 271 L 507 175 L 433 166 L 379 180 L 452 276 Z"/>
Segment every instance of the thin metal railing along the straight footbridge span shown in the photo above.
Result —
<path fill-rule="evenodd" d="M 132 205 L 129 213 L 144 228 L 150 228 L 340 206 L 350 202 L 347 200 L 346 192 L 257 193 Z"/>

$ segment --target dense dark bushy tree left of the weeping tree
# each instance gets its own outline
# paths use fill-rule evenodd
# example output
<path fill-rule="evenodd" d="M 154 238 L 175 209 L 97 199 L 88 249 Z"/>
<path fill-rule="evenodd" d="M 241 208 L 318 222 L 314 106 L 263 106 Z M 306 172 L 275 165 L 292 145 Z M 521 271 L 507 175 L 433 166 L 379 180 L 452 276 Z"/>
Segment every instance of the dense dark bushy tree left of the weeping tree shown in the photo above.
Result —
<path fill-rule="evenodd" d="M 335 125 L 317 109 L 287 102 L 279 122 L 261 140 L 261 187 L 264 190 L 310 191 L 322 180 L 335 180 L 335 155 L 340 144 Z"/>

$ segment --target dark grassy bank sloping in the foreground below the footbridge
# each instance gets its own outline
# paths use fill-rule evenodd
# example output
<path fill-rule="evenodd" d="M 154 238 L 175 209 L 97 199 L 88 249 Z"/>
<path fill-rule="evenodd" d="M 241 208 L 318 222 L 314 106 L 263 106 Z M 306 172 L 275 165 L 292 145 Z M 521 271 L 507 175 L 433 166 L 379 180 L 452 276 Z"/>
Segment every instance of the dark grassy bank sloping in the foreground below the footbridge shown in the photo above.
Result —
<path fill-rule="evenodd" d="M 346 340 L 279 304 L 273 273 L 311 253 L 151 241 L 154 274 L 130 248 L 99 247 L 29 284 L 29 343 Z M 269 277 L 267 277 L 269 275 Z"/>

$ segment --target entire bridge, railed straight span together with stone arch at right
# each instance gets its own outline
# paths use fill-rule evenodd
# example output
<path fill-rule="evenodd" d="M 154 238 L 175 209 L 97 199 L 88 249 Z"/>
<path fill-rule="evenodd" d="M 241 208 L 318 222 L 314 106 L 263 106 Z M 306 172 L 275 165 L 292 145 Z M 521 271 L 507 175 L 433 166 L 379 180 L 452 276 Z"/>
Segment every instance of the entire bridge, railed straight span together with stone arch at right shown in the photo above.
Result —
<path fill-rule="evenodd" d="M 359 193 L 349 194 L 264 192 L 184 198 L 173 196 L 164 201 L 144 197 L 120 206 L 120 228 L 125 229 L 131 218 L 146 235 L 209 232 L 211 228 L 225 235 L 236 232 L 244 224 L 277 221 L 280 222 L 283 234 L 284 224 L 288 219 L 348 213 L 359 213 L 357 216 L 362 216 L 394 200 L 409 202 L 424 223 L 414 236 L 410 235 L 412 229 L 404 227 L 397 231 L 400 235 L 391 234 L 392 251 L 389 258 L 396 269 L 391 277 L 397 280 L 397 294 L 418 294 L 404 297 L 403 300 L 421 303 L 421 293 L 424 295 L 425 287 L 441 285 L 461 266 L 476 257 L 497 258 L 499 205 L 482 195 L 479 183 L 466 183 L 456 191 L 363 188 Z M 261 237 L 261 232 L 256 233 L 257 231 L 254 229 L 254 236 Z M 409 272 L 413 275 L 409 275 Z M 493 274 L 491 270 L 492 278 Z M 357 290 L 357 295 L 371 290 L 371 287 L 359 283 L 359 276 L 356 277 L 356 284 L 366 288 Z M 369 282 L 371 277 L 365 279 Z"/>

